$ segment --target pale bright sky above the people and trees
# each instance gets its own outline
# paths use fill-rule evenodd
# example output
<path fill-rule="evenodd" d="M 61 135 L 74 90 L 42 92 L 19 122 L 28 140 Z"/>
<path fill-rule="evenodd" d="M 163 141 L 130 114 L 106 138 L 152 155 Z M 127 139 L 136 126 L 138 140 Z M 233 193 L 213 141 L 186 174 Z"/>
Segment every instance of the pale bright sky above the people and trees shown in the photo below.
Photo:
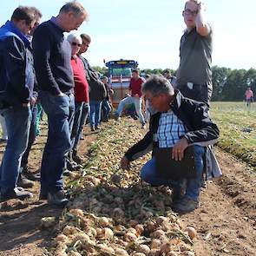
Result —
<path fill-rule="evenodd" d="M 2 1 L 3 24 L 22 5 L 35 5 L 43 21 L 56 16 L 62 0 Z M 141 69 L 179 65 L 179 44 L 185 29 L 183 0 L 87 0 L 89 22 L 78 32 L 88 33 L 92 43 L 86 56 L 92 65 L 128 58 Z M 221 2 L 221 3 L 220 3 Z M 213 65 L 232 69 L 256 69 L 256 2 L 254 0 L 208 0 L 207 21 L 213 25 Z"/>

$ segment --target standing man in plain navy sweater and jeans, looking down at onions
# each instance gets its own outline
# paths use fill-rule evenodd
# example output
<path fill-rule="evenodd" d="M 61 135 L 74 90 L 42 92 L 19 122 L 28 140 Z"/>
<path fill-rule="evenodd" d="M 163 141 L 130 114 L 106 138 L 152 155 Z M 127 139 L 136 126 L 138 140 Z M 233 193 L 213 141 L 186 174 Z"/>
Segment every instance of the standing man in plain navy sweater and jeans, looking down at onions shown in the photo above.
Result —
<path fill-rule="evenodd" d="M 63 193 L 62 171 L 71 146 L 71 115 L 75 113 L 71 47 L 64 32 L 77 30 L 87 17 L 81 3 L 66 3 L 58 16 L 38 26 L 32 41 L 39 100 L 49 125 L 41 166 L 40 200 L 57 206 L 68 202 Z"/>

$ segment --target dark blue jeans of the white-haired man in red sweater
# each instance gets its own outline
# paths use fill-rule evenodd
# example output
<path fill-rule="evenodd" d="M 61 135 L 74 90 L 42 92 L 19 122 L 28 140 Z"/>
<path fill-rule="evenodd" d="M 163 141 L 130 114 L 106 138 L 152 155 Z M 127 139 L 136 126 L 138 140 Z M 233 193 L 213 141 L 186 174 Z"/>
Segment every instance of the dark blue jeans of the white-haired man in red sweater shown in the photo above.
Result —
<path fill-rule="evenodd" d="M 75 102 L 75 118 L 71 133 L 71 148 L 77 148 L 78 142 L 82 135 L 82 128 L 84 122 L 89 115 L 89 103 L 86 102 Z"/>

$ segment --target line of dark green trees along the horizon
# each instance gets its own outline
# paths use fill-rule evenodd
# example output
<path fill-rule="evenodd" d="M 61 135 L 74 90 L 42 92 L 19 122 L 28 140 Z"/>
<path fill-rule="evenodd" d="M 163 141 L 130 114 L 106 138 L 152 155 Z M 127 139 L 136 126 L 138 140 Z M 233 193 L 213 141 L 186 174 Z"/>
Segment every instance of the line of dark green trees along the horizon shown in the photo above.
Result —
<path fill-rule="evenodd" d="M 105 67 L 94 67 L 102 75 L 108 75 Z M 163 74 L 170 70 L 172 75 L 176 74 L 174 69 L 141 69 L 143 74 Z M 237 102 L 243 101 L 248 86 L 256 95 L 256 69 L 228 69 L 213 66 L 213 96 L 214 102 Z M 255 99 L 255 97 L 254 97 Z"/>

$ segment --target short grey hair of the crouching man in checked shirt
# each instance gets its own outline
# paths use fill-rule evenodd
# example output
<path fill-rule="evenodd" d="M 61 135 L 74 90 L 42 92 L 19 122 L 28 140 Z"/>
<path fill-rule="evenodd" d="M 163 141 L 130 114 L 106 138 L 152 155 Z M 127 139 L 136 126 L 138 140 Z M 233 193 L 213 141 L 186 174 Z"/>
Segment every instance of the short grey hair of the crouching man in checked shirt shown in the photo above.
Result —
<path fill-rule="evenodd" d="M 152 95 L 174 95 L 174 87 L 162 75 L 152 75 L 147 82 L 142 85 L 142 93 L 150 93 Z"/>

